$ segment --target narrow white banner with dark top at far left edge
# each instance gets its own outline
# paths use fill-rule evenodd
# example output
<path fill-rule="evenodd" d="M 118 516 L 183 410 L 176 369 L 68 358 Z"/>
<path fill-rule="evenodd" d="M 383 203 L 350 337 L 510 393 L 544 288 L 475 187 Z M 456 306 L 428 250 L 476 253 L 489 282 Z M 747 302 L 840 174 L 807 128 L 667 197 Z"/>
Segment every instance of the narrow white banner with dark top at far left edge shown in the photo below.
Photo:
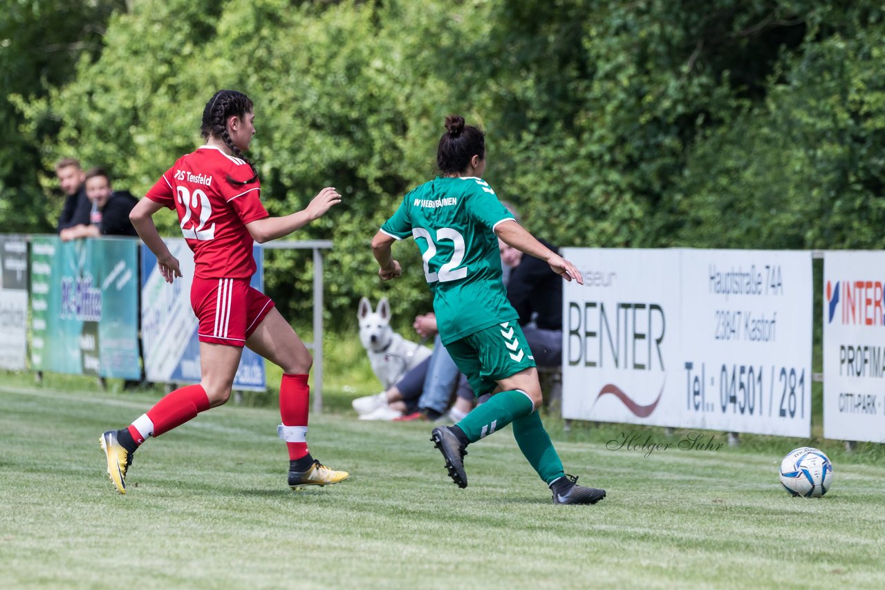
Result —
<path fill-rule="evenodd" d="M 0 369 L 22 371 L 27 360 L 27 241 L 0 235 Z"/>

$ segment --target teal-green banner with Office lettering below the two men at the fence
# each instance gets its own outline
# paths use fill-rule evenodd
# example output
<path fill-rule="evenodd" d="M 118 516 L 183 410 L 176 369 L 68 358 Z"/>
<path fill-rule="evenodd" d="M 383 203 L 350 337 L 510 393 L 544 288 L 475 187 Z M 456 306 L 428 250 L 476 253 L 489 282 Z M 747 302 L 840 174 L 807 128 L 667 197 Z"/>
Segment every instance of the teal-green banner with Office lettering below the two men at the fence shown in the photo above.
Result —
<path fill-rule="evenodd" d="M 32 239 L 33 369 L 140 378 L 137 257 L 134 239 Z"/>

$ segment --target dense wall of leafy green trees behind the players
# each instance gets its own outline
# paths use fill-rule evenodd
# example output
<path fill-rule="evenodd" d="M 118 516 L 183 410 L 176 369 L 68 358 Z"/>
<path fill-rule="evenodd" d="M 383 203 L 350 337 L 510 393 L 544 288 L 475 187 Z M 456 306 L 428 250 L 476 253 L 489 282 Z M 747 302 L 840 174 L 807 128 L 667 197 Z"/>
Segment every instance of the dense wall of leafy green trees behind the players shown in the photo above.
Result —
<path fill-rule="evenodd" d="M 16 105 L 42 166 L 76 153 L 143 193 L 200 142 L 204 101 L 242 89 L 268 209 L 345 197 L 296 236 L 335 241 L 330 317 L 386 292 L 407 322 L 429 304 L 417 251 L 381 285 L 369 240 L 433 176 L 450 112 L 486 129 L 489 183 L 558 245 L 880 247 L 882 27 L 872 0 L 142 0 L 100 59 Z M 268 267 L 306 317 L 305 257 Z"/>

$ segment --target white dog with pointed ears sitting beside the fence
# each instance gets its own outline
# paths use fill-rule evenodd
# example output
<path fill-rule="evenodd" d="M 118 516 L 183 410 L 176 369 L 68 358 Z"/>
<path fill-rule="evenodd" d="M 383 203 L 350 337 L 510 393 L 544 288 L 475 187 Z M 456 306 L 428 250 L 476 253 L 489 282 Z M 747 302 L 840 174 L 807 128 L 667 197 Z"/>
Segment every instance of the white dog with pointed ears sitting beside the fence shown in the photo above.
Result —
<path fill-rule="evenodd" d="M 430 356 L 431 350 L 419 342 L 407 341 L 403 336 L 393 331 L 393 328 L 390 327 L 390 304 L 387 297 L 378 302 L 378 307 L 374 311 L 372 303 L 363 297 L 359 300 L 357 316 L 359 318 L 359 340 L 369 355 L 369 362 L 372 364 L 375 376 L 384 387 L 384 391 L 380 394 L 367 395 L 353 400 L 353 409 L 357 410 L 360 416 L 366 416 L 380 408 L 387 408 L 387 394 L 385 392 L 413 366 Z"/>

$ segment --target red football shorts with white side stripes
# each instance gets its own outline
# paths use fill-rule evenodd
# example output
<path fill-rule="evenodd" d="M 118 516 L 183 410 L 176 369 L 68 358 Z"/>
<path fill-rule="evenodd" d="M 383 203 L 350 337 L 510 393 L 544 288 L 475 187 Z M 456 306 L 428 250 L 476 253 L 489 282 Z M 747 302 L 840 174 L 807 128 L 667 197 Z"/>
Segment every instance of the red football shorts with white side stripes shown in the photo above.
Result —
<path fill-rule="evenodd" d="M 244 346 L 273 309 L 270 297 L 250 287 L 249 279 L 197 279 L 190 287 L 190 306 L 200 326 L 199 341 Z"/>

